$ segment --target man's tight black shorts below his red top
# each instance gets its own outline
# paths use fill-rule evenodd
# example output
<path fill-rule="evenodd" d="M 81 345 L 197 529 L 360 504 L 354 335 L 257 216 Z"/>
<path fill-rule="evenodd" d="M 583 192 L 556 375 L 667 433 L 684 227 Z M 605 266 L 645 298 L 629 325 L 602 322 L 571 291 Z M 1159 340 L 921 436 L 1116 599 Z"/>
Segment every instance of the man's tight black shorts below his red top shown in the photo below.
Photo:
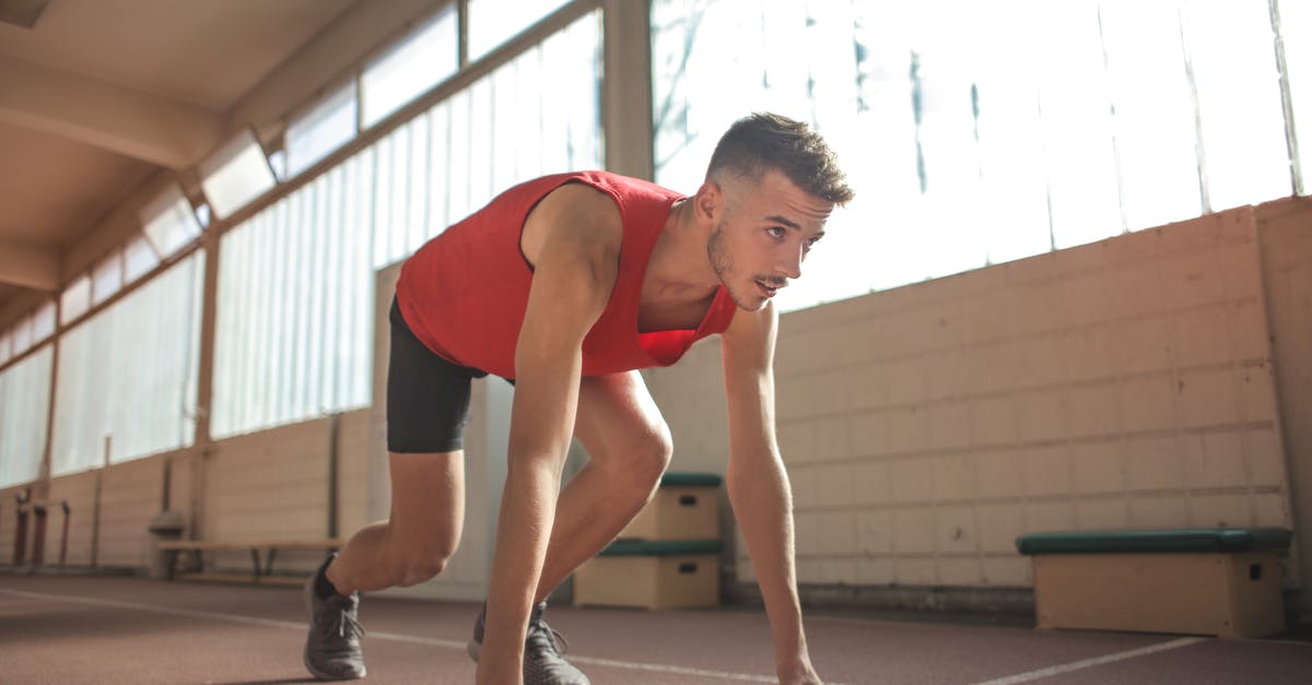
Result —
<path fill-rule="evenodd" d="M 387 361 L 387 451 L 455 451 L 464 446 L 470 384 L 487 371 L 438 357 L 415 337 L 392 298 Z"/>

